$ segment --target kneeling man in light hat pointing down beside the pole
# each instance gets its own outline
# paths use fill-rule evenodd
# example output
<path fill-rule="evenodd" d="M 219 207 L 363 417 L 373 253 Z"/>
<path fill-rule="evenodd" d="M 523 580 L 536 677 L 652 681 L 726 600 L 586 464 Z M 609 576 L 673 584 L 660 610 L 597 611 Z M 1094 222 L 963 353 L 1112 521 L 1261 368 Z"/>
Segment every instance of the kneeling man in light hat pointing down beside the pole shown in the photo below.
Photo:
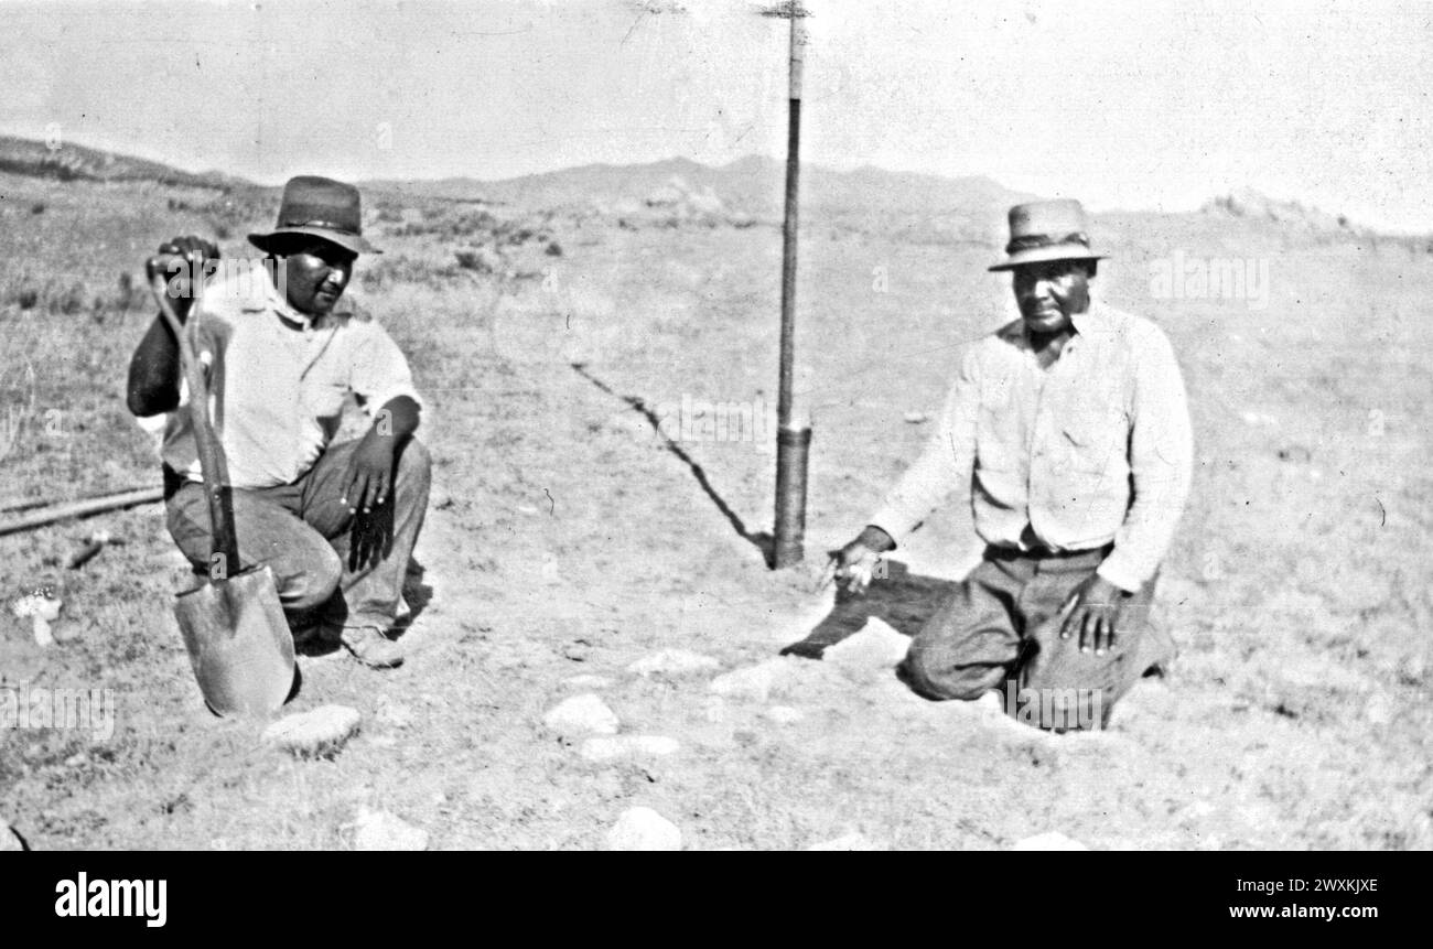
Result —
<path fill-rule="evenodd" d="M 900 667 L 933 700 L 990 690 L 1022 721 L 1099 728 L 1175 655 L 1149 622 L 1159 562 L 1189 490 L 1179 366 L 1152 323 L 1089 297 L 1103 255 L 1076 201 L 1010 209 L 1020 318 L 964 354 L 937 430 L 831 571 L 864 591 L 947 496 L 970 492 L 982 562 Z"/>

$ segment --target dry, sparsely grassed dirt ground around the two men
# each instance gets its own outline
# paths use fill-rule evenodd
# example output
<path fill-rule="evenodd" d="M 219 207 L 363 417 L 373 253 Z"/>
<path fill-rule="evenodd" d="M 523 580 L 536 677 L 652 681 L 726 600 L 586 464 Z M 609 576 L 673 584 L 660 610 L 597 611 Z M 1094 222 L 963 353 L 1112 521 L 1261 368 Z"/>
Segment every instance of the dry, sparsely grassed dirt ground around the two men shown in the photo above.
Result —
<path fill-rule="evenodd" d="M 0 496 L 156 483 L 123 406 L 152 318 L 140 261 L 188 231 L 242 255 L 274 196 L 16 175 L 0 195 Z M 989 701 L 926 702 L 888 657 L 772 662 L 818 628 L 909 635 L 972 563 L 953 499 L 867 599 L 815 589 L 824 550 L 927 437 L 913 413 L 939 409 L 962 344 L 1013 313 L 1007 278 L 984 271 L 999 206 L 964 228 L 878 206 L 817 205 L 802 222 L 807 561 L 772 572 L 774 430 L 716 440 L 679 421 L 684 400 L 774 411 L 768 216 L 593 211 L 536 191 L 368 201 L 388 254 L 360 264 L 353 292 L 431 404 L 406 665 L 304 659 L 291 710 L 345 704 L 363 727 L 331 758 L 294 760 L 259 725 L 205 711 L 171 615 L 189 578 L 159 505 L 0 538 L 6 602 L 59 582 L 57 629 L 73 636 L 42 649 L 7 609 L 0 687 L 115 697 L 107 737 L 0 733 L 0 817 L 33 847 L 342 849 L 367 807 L 433 849 L 600 849 L 632 806 L 694 850 L 1005 849 L 1046 831 L 1092 849 L 1433 847 L 1424 248 L 1221 214 L 1096 218 L 1112 254 L 1096 294 L 1159 323 L 1192 399 L 1194 492 L 1156 599 L 1181 658 L 1111 730 L 1052 737 Z M 463 262 L 464 248 L 486 249 Z M 1155 298 L 1151 261 L 1176 252 L 1267 262 L 1267 305 Z M 62 569 L 100 528 L 126 543 Z M 715 665 L 629 671 L 662 649 Z M 765 681 L 712 691 L 759 664 Z M 623 734 L 679 747 L 588 760 L 543 724 L 585 692 Z"/>

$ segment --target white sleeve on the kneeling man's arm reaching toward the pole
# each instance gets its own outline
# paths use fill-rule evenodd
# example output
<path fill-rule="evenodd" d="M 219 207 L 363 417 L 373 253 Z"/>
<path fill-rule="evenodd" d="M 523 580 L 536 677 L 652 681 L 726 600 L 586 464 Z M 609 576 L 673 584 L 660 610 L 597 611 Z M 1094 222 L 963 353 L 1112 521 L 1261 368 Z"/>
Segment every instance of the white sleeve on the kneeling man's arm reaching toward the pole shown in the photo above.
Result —
<path fill-rule="evenodd" d="M 970 486 L 979 409 L 979 347 L 972 347 L 924 450 L 867 523 L 900 545 L 957 487 Z"/>

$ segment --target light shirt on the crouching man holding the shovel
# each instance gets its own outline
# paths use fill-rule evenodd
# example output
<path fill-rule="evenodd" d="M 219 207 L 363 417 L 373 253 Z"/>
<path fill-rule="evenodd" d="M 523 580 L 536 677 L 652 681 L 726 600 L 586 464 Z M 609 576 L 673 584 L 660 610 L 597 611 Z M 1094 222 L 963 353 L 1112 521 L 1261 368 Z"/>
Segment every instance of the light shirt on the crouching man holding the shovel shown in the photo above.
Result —
<path fill-rule="evenodd" d="M 315 323 L 288 305 L 264 268 L 225 274 L 206 284 L 199 302 L 199 350 L 209 366 L 209 419 L 234 487 L 298 480 L 338 430 L 350 393 L 370 414 L 398 396 L 421 406 L 403 351 L 350 300 Z M 188 403 L 181 384 L 160 454 L 179 475 L 201 480 Z"/>

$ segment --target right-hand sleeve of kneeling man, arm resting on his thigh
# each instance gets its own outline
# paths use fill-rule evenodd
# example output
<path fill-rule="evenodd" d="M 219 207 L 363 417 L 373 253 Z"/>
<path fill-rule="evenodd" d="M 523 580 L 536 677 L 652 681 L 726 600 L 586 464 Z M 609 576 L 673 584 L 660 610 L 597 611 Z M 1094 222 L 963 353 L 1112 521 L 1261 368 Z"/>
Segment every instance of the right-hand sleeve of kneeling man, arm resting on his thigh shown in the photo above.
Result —
<path fill-rule="evenodd" d="M 1169 549 L 1189 496 L 1194 434 L 1179 363 L 1164 333 L 1141 341 L 1129 436 L 1134 499 L 1099 575 L 1136 592 Z"/>

